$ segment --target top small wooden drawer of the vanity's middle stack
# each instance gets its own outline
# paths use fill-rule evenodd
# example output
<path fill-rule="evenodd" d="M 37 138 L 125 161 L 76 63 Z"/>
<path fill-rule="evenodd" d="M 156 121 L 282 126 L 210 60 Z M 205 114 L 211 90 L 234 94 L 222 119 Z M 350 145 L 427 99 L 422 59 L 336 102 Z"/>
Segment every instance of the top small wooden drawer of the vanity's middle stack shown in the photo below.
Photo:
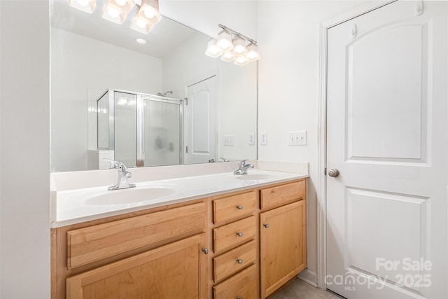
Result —
<path fill-rule="evenodd" d="M 255 191 L 213 201 L 213 223 L 220 223 L 255 211 Z"/>

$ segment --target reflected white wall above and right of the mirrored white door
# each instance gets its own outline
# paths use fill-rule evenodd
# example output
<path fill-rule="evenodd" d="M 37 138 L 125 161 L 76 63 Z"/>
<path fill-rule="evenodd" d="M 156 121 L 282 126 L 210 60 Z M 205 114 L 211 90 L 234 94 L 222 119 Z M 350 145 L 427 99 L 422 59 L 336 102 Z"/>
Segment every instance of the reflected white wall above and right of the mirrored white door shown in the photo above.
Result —
<path fill-rule="evenodd" d="M 173 90 L 173 97 L 183 99 L 188 85 L 218 75 L 216 158 L 255 159 L 257 148 L 248 145 L 248 135 L 256 134 L 257 64 L 239 67 L 208 57 L 204 55 L 208 41 L 208 36 L 197 34 L 163 57 L 163 90 Z M 234 146 L 223 145 L 224 135 L 234 136 Z"/>

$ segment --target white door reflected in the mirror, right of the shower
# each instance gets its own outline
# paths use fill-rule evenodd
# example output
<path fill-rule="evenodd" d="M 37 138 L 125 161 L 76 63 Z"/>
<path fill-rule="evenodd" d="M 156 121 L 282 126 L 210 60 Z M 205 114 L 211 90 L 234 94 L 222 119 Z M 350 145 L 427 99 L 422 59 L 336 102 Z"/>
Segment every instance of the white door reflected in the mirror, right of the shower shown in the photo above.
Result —
<path fill-rule="evenodd" d="M 216 160 L 216 76 L 189 85 L 186 104 L 186 164 Z"/>

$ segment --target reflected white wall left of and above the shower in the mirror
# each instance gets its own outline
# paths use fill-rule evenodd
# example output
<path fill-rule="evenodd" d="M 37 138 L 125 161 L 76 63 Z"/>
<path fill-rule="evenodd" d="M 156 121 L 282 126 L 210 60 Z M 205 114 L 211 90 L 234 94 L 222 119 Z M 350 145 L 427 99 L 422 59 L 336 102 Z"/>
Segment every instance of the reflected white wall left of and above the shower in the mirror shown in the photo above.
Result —
<path fill-rule="evenodd" d="M 52 171 L 87 170 L 87 88 L 155 95 L 162 60 L 54 27 L 51 36 Z"/>

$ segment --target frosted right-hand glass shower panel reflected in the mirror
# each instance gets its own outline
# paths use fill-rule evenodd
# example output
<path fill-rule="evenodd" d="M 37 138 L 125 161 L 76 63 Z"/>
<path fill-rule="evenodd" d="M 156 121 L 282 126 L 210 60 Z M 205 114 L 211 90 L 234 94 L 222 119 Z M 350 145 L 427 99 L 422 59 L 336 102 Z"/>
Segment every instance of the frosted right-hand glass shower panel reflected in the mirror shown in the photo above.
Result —
<path fill-rule="evenodd" d="M 181 164 L 181 104 L 143 98 L 144 166 Z"/>

